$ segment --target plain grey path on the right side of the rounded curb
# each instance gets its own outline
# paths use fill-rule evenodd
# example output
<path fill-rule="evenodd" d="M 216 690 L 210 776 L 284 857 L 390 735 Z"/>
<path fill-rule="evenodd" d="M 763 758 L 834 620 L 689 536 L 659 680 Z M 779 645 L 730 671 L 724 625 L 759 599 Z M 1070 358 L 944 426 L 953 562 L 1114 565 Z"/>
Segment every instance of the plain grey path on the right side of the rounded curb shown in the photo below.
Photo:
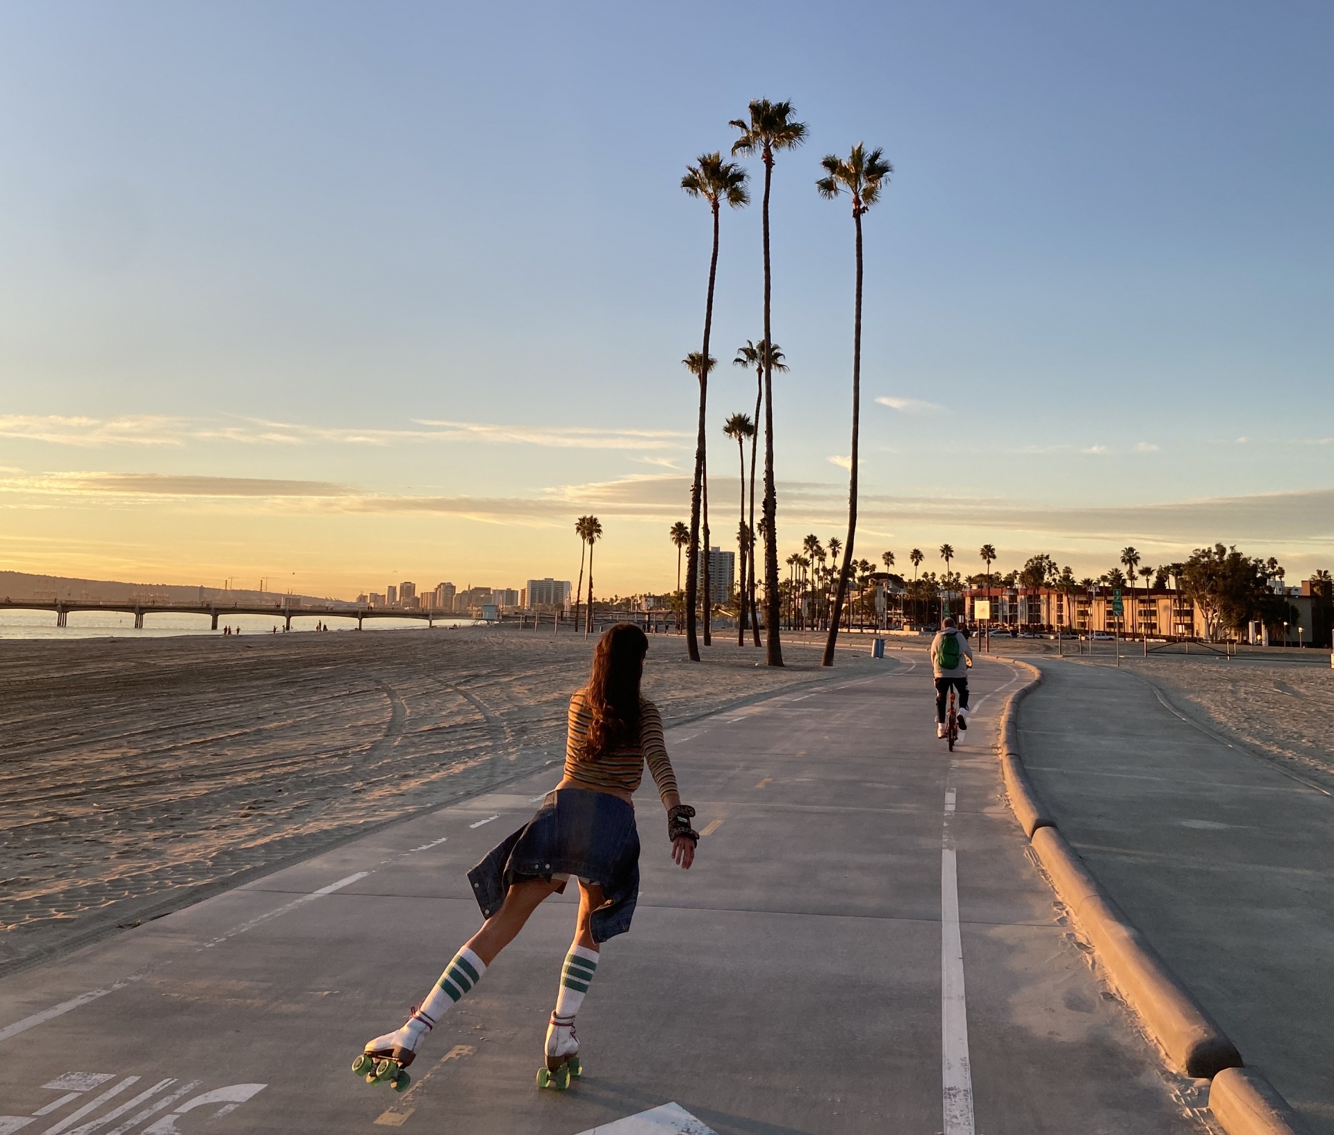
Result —
<path fill-rule="evenodd" d="M 1334 1135 L 1334 799 L 1129 667 L 1033 663 L 1019 740 L 1049 812 L 1246 1063 Z"/>

